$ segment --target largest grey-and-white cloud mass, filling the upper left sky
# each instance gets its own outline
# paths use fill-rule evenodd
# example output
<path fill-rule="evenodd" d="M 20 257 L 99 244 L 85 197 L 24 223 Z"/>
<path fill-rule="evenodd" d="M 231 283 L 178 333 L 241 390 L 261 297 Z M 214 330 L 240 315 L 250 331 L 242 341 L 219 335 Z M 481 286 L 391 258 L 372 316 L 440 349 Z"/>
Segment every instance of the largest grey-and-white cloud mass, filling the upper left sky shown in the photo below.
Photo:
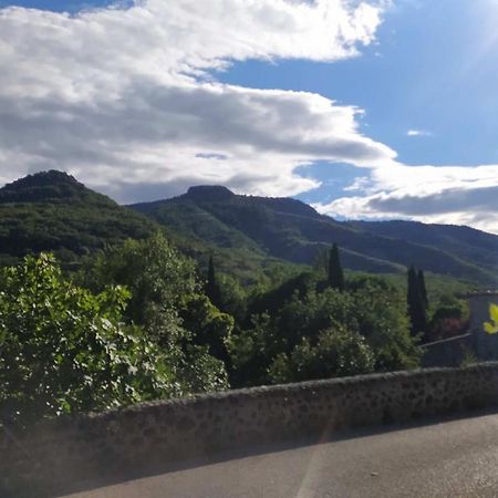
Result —
<path fill-rule="evenodd" d="M 0 181 L 65 169 L 122 201 L 193 184 L 293 195 L 325 159 L 395 153 L 363 136 L 362 111 L 317 94 L 222 85 L 247 59 L 355 56 L 382 1 L 135 1 L 75 15 L 0 10 Z"/>

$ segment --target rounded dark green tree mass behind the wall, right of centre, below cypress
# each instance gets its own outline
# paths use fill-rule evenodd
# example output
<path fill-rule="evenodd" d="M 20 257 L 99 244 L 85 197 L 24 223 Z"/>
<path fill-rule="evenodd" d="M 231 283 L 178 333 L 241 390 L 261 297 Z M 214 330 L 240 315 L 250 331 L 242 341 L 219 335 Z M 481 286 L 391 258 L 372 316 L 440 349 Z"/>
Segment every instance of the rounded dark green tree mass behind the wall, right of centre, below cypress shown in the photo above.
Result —
<path fill-rule="evenodd" d="M 409 335 L 403 293 L 382 279 L 356 280 L 341 292 L 323 286 L 319 277 L 308 273 L 291 280 L 292 293 L 284 282 L 253 298 L 252 310 L 259 313 L 231 340 L 234 383 L 417 365 L 419 351 Z"/>

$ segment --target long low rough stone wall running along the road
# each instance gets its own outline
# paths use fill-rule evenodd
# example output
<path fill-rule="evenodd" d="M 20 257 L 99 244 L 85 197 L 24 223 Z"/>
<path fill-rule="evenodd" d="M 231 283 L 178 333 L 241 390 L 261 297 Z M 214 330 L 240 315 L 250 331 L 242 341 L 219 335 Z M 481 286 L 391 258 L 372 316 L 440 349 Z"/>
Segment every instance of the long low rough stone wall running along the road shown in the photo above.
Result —
<path fill-rule="evenodd" d="M 430 369 L 142 404 L 44 422 L 0 438 L 3 489 L 49 492 L 95 476 L 498 403 L 498 363 Z M 1 491 L 1 489 L 0 489 Z M 1 495 L 1 492 L 0 492 Z"/>

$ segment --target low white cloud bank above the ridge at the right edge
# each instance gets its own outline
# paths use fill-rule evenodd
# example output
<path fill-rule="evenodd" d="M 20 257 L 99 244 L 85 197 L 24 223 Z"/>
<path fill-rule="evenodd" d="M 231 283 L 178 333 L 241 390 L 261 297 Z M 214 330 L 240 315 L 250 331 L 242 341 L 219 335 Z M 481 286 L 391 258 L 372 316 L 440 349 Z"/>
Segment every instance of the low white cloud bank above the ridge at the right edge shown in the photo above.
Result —
<path fill-rule="evenodd" d="M 317 209 L 352 219 L 405 218 L 468 225 L 498 234 L 498 165 L 392 163 L 373 169 L 369 178 L 357 178 L 350 190 L 361 195 L 318 204 Z"/>

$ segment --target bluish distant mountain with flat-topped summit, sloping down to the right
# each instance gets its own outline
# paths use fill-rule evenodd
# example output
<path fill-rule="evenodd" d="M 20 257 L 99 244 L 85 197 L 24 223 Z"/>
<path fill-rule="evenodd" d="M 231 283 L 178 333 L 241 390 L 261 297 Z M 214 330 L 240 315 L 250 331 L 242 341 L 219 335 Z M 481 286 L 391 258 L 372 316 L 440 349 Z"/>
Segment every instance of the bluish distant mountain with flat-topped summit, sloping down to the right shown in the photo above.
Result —
<path fill-rule="evenodd" d="M 336 242 L 354 270 L 400 272 L 415 264 L 483 286 L 498 281 L 498 237 L 468 227 L 340 222 L 295 199 L 239 196 L 220 186 L 129 207 L 187 240 L 294 263 L 310 263 Z"/>

